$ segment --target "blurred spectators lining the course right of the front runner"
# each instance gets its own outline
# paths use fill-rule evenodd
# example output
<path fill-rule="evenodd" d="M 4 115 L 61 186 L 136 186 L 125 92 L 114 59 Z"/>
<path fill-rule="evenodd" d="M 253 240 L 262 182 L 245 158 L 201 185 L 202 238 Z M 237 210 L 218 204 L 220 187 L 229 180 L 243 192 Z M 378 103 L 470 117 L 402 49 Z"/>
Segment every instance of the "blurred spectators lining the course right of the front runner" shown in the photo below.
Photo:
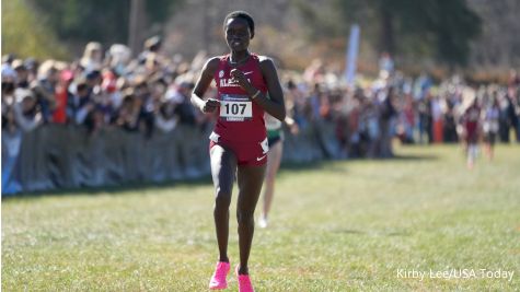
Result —
<path fill-rule="evenodd" d="M 440 82 L 427 73 L 404 75 L 388 54 L 379 66 L 375 80 L 345 84 L 342 72 L 314 60 L 298 84 L 287 82 L 291 115 L 303 127 L 316 119 L 335 122 L 348 156 L 392 156 L 395 137 L 423 144 L 520 142 L 516 70 L 510 70 L 507 84 L 469 84 L 460 75 Z"/>

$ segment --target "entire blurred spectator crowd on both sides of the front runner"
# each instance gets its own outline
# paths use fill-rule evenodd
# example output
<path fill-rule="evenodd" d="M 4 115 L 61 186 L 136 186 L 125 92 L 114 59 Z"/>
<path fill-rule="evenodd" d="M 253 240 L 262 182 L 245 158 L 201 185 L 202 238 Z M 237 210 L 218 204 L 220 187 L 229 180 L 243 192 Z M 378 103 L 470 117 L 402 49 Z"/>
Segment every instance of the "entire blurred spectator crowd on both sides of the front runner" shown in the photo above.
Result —
<path fill-rule="evenodd" d="M 132 58 L 125 45 L 104 49 L 89 43 L 70 63 L 3 56 L 3 137 L 45 124 L 77 125 L 89 135 L 120 127 L 147 137 L 180 124 L 205 128 L 215 117 L 196 110 L 189 97 L 206 54 L 186 61 L 161 47 L 161 38 L 151 37 Z M 355 85 L 320 60 L 304 72 L 281 70 L 288 115 L 300 129 L 334 125 L 345 155 L 355 157 L 391 156 L 394 137 L 405 143 L 458 142 L 467 136 L 465 122 L 475 118 L 482 139 L 509 142 L 513 133 L 520 141 L 520 78 L 513 70 L 508 84 L 475 86 L 460 77 L 441 82 L 427 74 L 406 77 L 388 55 L 379 65 L 378 79 Z M 215 95 L 211 87 L 207 96 Z M 469 114 L 475 106 L 476 117 Z"/>

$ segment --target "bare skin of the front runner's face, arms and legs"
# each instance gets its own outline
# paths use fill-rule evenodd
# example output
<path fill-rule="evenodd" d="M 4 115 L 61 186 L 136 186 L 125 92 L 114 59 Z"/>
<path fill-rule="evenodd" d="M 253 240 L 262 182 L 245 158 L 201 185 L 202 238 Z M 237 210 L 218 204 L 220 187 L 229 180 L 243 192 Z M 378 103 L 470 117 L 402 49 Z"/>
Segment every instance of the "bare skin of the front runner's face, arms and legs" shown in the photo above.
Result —
<path fill-rule="evenodd" d="M 247 61 L 250 45 L 253 34 L 250 31 L 247 22 L 241 17 L 230 19 L 224 27 L 226 40 L 231 50 L 230 65 L 238 67 Z M 203 113 L 215 113 L 220 106 L 216 98 L 203 100 L 213 75 L 218 70 L 220 59 L 213 57 L 209 59 L 203 68 L 203 72 L 195 84 L 192 94 L 192 103 Z M 281 90 L 278 74 L 273 60 L 266 57 L 259 57 L 259 68 L 266 81 L 270 98 L 247 81 L 247 78 L 239 69 L 232 69 L 231 75 L 242 90 L 265 112 L 271 116 L 284 120 L 286 117 L 286 107 L 284 103 L 284 93 Z M 215 185 L 215 226 L 217 230 L 217 242 L 219 245 L 220 261 L 229 262 L 228 258 L 228 237 L 229 237 L 229 207 L 231 203 L 231 192 L 233 189 L 234 174 L 239 186 L 239 198 L 236 203 L 236 220 L 239 223 L 239 246 L 240 246 L 240 275 L 247 275 L 247 260 L 250 257 L 251 245 L 254 234 L 254 211 L 262 190 L 264 180 L 265 165 L 251 166 L 238 165 L 235 154 L 222 145 L 215 145 L 210 151 L 211 174 Z"/>

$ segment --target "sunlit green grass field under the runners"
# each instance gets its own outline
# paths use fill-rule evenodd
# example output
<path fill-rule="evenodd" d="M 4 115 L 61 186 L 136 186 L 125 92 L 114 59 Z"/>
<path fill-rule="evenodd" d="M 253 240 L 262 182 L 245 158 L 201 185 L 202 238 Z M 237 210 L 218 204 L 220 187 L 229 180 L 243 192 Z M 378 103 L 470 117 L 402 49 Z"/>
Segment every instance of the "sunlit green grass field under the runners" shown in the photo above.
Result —
<path fill-rule="evenodd" d="M 270 225 L 255 233 L 256 290 L 519 291 L 520 148 L 472 172 L 458 147 L 396 153 L 284 170 Z M 2 291 L 206 291 L 211 212 L 210 182 L 3 200 Z"/>

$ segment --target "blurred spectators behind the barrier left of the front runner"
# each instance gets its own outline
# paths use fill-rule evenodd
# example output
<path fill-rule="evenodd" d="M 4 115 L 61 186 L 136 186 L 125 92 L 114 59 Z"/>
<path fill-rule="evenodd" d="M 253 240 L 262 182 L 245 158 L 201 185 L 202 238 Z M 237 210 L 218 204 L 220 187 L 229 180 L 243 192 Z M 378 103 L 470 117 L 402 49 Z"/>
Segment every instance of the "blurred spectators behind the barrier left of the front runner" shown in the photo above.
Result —
<path fill-rule="evenodd" d="M 71 63 L 3 56 L 2 127 L 15 132 L 74 124 L 94 133 L 117 126 L 150 136 L 178 122 L 201 125 L 207 117 L 189 103 L 194 72 L 204 61 L 197 60 L 166 58 L 159 37 L 148 39 L 136 59 L 124 45 L 104 51 L 99 43 L 89 43 Z"/>

